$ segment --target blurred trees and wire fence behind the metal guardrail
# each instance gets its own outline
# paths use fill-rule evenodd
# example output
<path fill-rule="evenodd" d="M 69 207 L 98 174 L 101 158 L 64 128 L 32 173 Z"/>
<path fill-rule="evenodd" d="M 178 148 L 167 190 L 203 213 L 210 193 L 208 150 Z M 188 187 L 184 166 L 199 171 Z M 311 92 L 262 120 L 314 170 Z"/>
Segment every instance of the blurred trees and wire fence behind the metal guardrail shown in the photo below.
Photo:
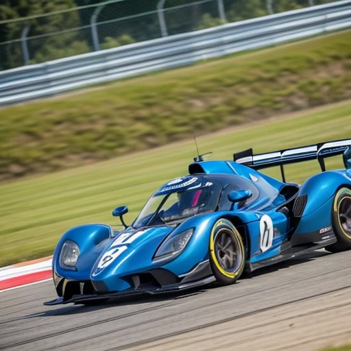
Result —
<path fill-rule="evenodd" d="M 3 0 L 0 69 L 330 2 L 332 0 Z"/>

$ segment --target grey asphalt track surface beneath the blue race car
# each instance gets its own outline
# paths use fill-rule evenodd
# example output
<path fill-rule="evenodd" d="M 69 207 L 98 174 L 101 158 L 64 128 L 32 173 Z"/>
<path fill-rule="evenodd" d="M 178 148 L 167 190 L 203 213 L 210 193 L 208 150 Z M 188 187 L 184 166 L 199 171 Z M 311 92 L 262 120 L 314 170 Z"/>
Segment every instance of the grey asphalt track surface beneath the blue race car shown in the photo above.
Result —
<path fill-rule="evenodd" d="M 52 282 L 0 293 L 0 350 L 319 350 L 351 341 L 351 251 L 319 250 L 229 287 L 43 306 Z"/>

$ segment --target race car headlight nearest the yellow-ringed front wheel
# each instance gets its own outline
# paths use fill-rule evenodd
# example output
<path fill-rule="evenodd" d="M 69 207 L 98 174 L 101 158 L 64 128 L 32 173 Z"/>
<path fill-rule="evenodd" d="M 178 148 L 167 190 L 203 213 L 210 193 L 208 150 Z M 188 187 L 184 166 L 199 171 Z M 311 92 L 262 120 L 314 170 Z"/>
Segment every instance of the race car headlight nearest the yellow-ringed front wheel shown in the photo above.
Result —
<path fill-rule="evenodd" d="M 185 249 L 194 230 L 195 228 L 191 228 L 179 234 L 169 235 L 160 247 L 158 247 L 154 259 L 158 260 L 178 256 Z"/>

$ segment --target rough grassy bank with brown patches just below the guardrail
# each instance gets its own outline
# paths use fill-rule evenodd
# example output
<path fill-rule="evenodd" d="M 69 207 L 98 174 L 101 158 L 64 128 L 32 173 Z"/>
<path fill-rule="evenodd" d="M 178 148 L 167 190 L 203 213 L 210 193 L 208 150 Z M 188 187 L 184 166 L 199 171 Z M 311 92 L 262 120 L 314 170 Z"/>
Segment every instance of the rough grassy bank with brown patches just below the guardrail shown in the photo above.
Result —
<path fill-rule="evenodd" d="M 0 110 L 0 180 L 351 97 L 351 32 Z"/>

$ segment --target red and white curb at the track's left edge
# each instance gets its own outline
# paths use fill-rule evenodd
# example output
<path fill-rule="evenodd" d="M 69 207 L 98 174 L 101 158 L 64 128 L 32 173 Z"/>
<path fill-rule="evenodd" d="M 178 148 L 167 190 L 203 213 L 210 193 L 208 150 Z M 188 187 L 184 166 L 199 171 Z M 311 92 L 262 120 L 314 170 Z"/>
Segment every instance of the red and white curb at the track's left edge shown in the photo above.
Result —
<path fill-rule="evenodd" d="M 0 293 L 52 279 L 51 257 L 0 268 Z"/>

